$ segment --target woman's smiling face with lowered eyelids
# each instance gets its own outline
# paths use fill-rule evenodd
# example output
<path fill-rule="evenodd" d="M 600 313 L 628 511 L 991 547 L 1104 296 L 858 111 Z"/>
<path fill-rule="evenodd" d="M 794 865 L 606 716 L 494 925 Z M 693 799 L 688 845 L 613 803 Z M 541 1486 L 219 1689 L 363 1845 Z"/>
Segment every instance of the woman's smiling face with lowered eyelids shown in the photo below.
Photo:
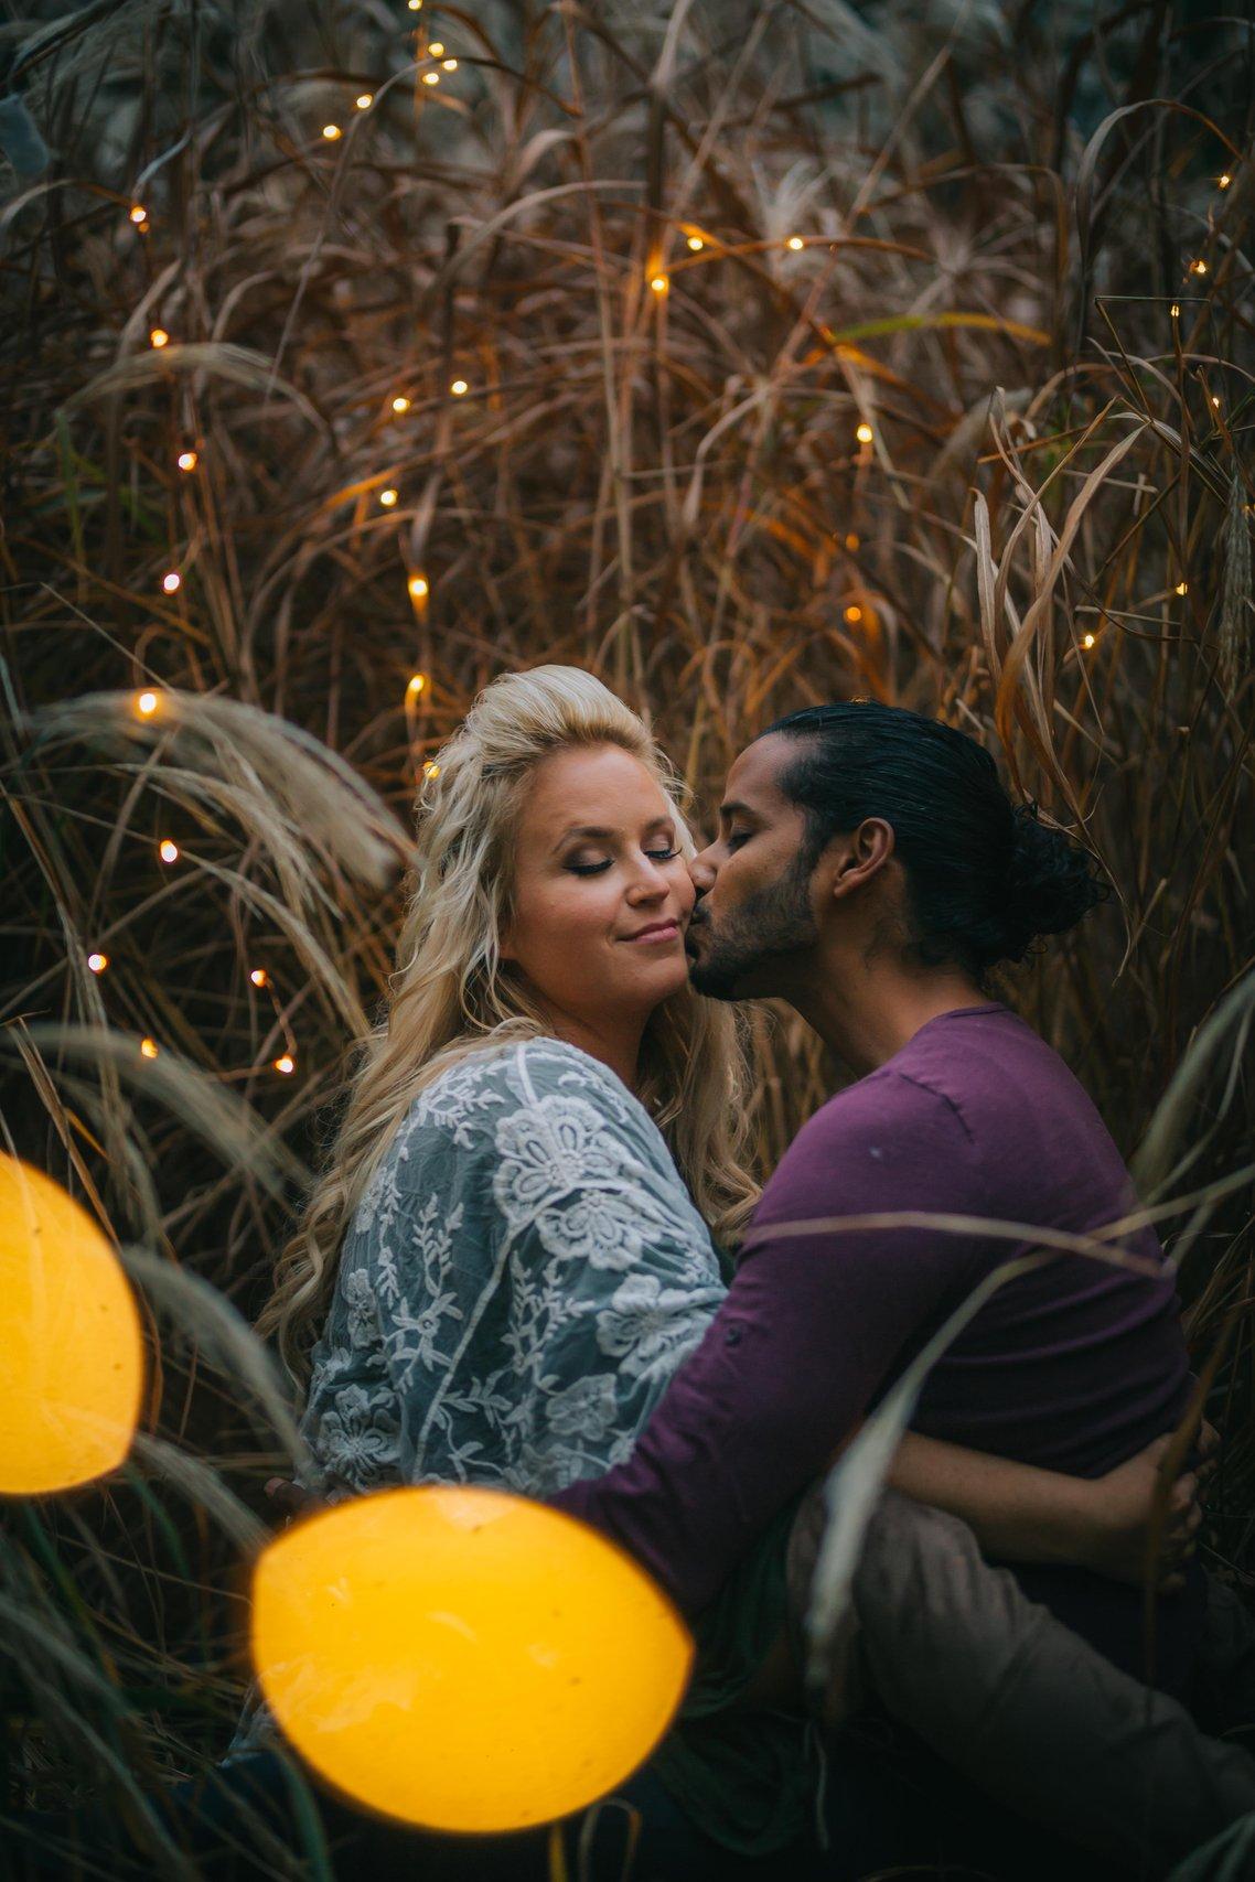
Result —
<path fill-rule="evenodd" d="M 687 981 L 694 888 L 672 805 L 617 745 L 536 766 L 516 841 L 502 958 L 578 1020 L 645 1018 Z"/>

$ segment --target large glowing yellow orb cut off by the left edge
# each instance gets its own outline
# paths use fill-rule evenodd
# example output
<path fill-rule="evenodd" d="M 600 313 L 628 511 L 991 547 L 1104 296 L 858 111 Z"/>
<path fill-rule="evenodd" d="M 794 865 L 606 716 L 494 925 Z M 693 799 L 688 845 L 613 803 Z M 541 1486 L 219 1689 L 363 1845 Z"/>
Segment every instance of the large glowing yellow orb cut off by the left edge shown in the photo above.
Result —
<path fill-rule="evenodd" d="M 139 1314 L 113 1248 L 51 1176 L 0 1154 L 0 1492 L 115 1470 L 141 1396 Z"/>

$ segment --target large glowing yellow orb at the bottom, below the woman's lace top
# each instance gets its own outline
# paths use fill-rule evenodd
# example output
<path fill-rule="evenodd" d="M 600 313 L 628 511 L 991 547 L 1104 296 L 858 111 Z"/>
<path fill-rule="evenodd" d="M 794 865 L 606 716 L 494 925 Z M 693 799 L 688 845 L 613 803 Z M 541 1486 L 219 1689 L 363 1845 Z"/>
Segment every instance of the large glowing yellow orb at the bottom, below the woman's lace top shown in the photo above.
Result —
<path fill-rule="evenodd" d="M 583 1523 L 423 1485 L 271 1541 L 252 1654 L 280 1728 L 337 1790 L 429 1829 L 504 1831 L 583 1809 L 649 1756 L 692 1639 Z"/>

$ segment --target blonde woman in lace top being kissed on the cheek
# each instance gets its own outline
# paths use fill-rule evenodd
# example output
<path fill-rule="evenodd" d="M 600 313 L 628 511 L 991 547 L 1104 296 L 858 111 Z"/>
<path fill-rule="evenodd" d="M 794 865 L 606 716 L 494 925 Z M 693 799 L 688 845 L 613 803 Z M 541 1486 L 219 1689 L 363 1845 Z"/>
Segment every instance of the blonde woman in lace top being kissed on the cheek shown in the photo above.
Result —
<path fill-rule="evenodd" d="M 324 1474 L 307 1491 L 455 1481 L 544 1498 L 630 1453 L 724 1295 L 717 1248 L 756 1197 L 738 1020 L 689 986 L 677 781 L 593 676 L 542 666 L 489 685 L 421 787 L 418 851 L 391 1005 L 260 1325 L 305 1393 Z M 909 1438 L 899 1479 L 916 1496 L 933 1466 L 950 1507 L 971 1470 L 973 1521 L 997 1509 L 1003 1553 L 1010 1526 L 1025 1560 L 1110 1570 L 1123 1547 L 1136 1573 L 1148 1464 L 1082 1502 L 1076 1479 Z M 961 1524 L 913 1523 L 913 1507 L 894 1506 L 894 1549 L 943 1590 Z M 687 1716 L 655 1760 L 726 1874 L 807 1837 L 805 1722 L 779 1698 L 753 1707 L 755 1673 L 779 1656 L 792 1517 L 700 1617 Z M 969 1534 L 961 1555 L 969 1596 L 988 1577 L 992 1651 L 1054 1630 L 1095 1690 L 1121 1681 L 986 1570 Z M 875 1575 L 858 1600 L 892 1635 Z M 950 1620 L 939 1598 L 929 1624 Z M 894 1692 L 907 1722 L 909 1686 Z"/>

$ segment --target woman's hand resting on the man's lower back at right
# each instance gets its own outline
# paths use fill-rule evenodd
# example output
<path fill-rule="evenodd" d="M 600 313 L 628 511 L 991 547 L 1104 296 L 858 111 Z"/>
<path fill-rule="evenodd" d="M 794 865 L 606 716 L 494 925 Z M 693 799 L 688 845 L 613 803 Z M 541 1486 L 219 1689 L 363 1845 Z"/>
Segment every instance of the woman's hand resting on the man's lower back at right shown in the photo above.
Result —
<path fill-rule="evenodd" d="M 1153 1562 L 1153 1587 L 1161 1594 L 1174 1594 L 1185 1585 L 1185 1564 L 1195 1553 L 1202 1523 L 1200 1494 L 1215 1470 L 1219 1432 L 1204 1425 L 1199 1432 L 1197 1468 L 1184 1470 L 1176 1481 L 1165 1483 L 1163 1464 L 1170 1443 L 1172 1432 L 1155 1438 L 1136 1457 L 1093 1479 L 1091 1536 L 1086 1549 L 1086 1568 L 1142 1588 L 1148 1581 L 1152 1541 L 1163 1521 Z"/>

